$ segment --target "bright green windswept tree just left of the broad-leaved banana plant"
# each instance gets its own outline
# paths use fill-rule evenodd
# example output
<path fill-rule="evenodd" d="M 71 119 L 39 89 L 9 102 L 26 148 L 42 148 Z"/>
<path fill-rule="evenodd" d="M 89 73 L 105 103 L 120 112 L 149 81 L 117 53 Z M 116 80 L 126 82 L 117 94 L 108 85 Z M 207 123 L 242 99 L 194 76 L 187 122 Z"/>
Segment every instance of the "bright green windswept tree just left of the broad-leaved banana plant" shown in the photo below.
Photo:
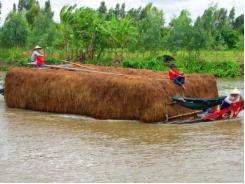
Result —
<path fill-rule="evenodd" d="M 94 58 L 98 45 L 103 40 L 99 29 L 102 19 L 99 13 L 91 8 L 75 8 L 65 7 L 61 11 L 67 50 L 72 45 L 76 56 L 86 54 L 86 57 Z"/>

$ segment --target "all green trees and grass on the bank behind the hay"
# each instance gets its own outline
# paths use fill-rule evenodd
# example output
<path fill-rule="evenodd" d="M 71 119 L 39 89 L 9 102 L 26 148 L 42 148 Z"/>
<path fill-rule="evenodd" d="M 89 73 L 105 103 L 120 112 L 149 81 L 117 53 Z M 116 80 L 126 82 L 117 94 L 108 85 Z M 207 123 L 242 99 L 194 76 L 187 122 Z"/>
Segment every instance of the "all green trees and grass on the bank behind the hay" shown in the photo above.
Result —
<path fill-rule="evenodd" d="M 127 11 L 125 4 L 107 8 L 104 2 L 97 9 L 64 6 L 59 23 L 53 15 L 49 0 L 43 7 L 35 0 L 13 4 L 0 27 L 1 70 L 26 66 L 38 44 L 46 63 L 68 60 L 165 71 L 163 56 L 170 55 L 187 73 L 243 75 L 244 15 L 236 15 L 235 8 L 213 4 L 195 20 L 182 10 L 169 24 L 164 10 L 151 3 Z"/>

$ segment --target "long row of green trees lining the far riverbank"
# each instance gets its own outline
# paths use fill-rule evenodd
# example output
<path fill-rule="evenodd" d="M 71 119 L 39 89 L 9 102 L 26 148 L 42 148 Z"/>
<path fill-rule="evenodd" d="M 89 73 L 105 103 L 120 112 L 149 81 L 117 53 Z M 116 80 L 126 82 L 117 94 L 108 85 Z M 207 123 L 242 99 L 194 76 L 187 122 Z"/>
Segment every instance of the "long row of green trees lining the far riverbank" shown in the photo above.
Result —
<path fill-rule="evenodd" d="M 163 10 L 152 3 L 126 11 L 124 3 L 108 8 L 102 1 L 97 9 L 64 6 L 60 23 L 53 16 L 50 0 L 43 7 L 37 0 L 19 0 L 0 29 L 2 47 L 40 44 L 62 49 L 71 59 L 100 58 L 105 51 L 122 59 L 129 51 L 154 54 L 167 49 L 196 56 L 203 49 L 243 48 L 244 15 L 236 17 L 234 7 L 228 11 L 211 5 L 196 20 L 182 10 L 168 25 Z"/>

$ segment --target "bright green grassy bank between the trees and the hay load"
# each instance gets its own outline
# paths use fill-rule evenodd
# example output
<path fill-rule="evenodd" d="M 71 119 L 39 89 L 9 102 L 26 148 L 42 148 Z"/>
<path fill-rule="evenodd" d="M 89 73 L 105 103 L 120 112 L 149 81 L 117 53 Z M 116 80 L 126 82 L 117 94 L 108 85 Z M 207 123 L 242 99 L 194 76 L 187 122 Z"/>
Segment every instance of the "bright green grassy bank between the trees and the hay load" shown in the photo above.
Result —
<path fill-rule="evenodd" d="M 49 64 L 60 64 L 64 59 L 64 53 L 57 50 L 45 50 L 45 62 Z M 103 66 L 119 66 L 126 68 L 150 69 L 167 71 L 168 66 L 161 59 L 156 59 L 164 54 L 172 55 L 170 52 L 157 52 L 155 54 L 125 53 L 123 62 L 113 62 L 113 54 L 105 53 L 98 60 L 86 60 L 87 64 Z M 2 49 L 0 48 L 0 70 L 8 70 L 10 66 L 26 66 L 30 61 L 31 50 L 22 48 Z M 216 77 L 241 77 L 243 75 L 241 66 L 243 64 L 243 51 L 201 51 L 198 57 L 189 57 L 188 53 L 178 52 L 174 62 L 179 70 L 186 73 L 209 73 Z"/>

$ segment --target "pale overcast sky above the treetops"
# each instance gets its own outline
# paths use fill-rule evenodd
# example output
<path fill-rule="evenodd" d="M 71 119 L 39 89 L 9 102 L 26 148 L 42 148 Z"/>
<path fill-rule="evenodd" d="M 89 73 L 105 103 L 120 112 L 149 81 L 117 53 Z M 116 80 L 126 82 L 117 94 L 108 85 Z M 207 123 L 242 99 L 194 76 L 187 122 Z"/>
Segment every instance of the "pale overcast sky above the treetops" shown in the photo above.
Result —
<path fill-rule="evenodd" d="M 13 3 L 18 3 L 18 0 L 0 0 L 2 2 L 2 15 L 0 25 L 3 23 L 6 15 L 11 11 Z M 38 0 L 41 6 L 46 0 Z M 162 9 L 165 13 L 165 19 L 168 23 L 172 17 L 179 15 L 182 9 L 188 9 L 193 20 L 203 11 L 208 8 L 211 3 L 218 3 L 218 6 L 230 10 L 233 6 L 236 9 L 236 16 L 244 11 L 243 0 L 104 0 L 108 8 L 115 7 L 116 3 L 125 3 L 126 10 L 130 8 L 144 7 L 147 3 L 152 2 L 156 7 Z M 98 8 L 101 0 L 50 0 L 52 9 L 55 12 L 54 19 L 59 21 L 59 12 L 64 5 L 77 4 L 79 6 L 88 6 Z"/>

